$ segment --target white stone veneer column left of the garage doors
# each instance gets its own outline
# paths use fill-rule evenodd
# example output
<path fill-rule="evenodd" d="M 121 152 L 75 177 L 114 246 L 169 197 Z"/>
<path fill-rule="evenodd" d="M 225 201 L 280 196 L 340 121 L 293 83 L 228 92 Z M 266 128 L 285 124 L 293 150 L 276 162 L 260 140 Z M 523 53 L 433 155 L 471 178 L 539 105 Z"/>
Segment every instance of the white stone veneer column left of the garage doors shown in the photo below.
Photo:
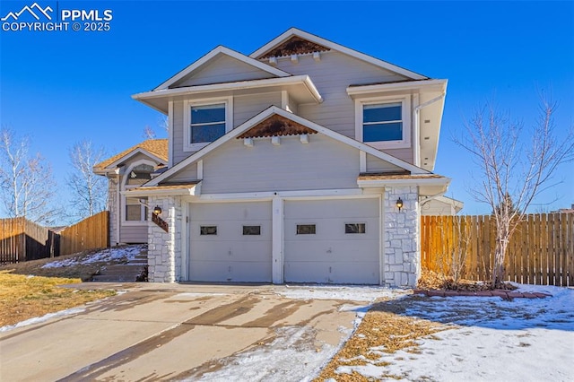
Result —
<path fill-rule="evenodd" d="M 148 280 L 150 282 L 177 282 L 181 278 L 181 226 L 182 203 L 177 196 L 152 196 L 148 217 Z M 161 219 L 168 223 L 169 231 L 162 230 L 152 221 L 153 207 L 161 207 Z"/>

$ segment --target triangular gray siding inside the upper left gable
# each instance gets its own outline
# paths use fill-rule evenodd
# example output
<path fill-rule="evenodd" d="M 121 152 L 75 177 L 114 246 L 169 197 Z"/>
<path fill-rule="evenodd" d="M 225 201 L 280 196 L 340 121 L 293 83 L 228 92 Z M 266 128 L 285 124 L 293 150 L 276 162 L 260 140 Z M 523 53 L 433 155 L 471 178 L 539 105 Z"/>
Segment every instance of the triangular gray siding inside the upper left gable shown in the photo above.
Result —
<path fill-rule="evenodd" d="M 196 70 L 190 76 L 176 82 L 171 87 L 207 85 L 211 83 L 237 82 L 260 80 L 276 77 L 255 66 L 248 65 L 236 58 L 220 55 L 213 58 L 207 65 Z"/>

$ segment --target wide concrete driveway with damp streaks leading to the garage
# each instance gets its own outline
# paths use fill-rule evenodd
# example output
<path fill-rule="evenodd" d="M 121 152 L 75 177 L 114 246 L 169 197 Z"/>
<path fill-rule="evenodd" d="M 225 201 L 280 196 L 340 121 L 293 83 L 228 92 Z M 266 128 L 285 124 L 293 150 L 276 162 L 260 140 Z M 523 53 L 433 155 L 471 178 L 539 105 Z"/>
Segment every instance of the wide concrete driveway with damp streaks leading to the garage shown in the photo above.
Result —
<path fill-rule="evenodd" d="M 309 287 L 290 298 L 273 285 L 115 286 L 126 292 L 0 334 L 0 379 L 300 380 L 335 354 L 368 304 L 337 293 L 311 300 Z"/>

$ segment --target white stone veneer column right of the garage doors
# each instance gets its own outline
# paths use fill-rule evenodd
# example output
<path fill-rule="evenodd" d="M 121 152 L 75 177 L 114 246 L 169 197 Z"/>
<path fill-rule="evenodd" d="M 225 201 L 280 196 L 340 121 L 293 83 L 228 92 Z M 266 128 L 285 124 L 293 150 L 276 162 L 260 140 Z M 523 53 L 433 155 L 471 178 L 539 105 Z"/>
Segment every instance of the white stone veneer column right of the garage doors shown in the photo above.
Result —
<path fill-rule="evenodd" d="M 403 199 L 398 211 L 396 200 Z M 383 284 L 414 288 L 421 274 L 418 187 L 385 188 Z"/>

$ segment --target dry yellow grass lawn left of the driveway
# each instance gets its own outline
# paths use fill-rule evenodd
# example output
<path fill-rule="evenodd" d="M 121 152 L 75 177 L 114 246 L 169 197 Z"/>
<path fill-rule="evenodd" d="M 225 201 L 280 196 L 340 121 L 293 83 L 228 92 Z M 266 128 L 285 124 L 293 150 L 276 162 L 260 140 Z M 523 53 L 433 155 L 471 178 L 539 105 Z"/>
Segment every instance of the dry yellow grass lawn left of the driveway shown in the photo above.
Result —
<path fill-rule="evenodd" d="M 0 271 L 0 326 L 74 308 L 100 300 L 115 291 L 78 291 L 58 285 L 82 282 L 79 278 L 28 276 Z"/>

